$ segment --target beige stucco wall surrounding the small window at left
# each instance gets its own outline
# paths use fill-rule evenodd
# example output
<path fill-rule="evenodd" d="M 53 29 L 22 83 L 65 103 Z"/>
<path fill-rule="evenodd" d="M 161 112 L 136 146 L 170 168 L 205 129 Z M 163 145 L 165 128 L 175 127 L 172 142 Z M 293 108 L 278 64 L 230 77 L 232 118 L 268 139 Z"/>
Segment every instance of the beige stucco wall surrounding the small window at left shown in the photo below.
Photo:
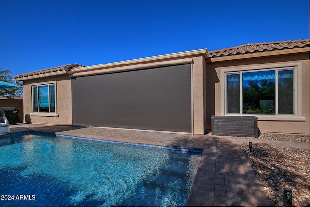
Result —
<path fill-rule="evenodd" d="M 36 116 L 31 114 L 31 84 L 56 81 L 56 106 L 58 116 Z M 42 124 L 72 124 L 71 79 L 69 75 L 51 76 L 24 80 L 24 122 Z"/>

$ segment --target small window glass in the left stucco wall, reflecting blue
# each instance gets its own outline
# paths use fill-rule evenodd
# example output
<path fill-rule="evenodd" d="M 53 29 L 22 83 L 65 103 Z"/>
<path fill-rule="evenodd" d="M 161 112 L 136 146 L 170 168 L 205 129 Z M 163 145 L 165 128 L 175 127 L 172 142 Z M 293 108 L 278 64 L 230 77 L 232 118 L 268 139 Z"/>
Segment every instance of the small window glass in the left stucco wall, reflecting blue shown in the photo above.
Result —
<path fill-rule="evenodd" d="M 32 86 L 32 112 L 55 113 L 55 84 Z"/>

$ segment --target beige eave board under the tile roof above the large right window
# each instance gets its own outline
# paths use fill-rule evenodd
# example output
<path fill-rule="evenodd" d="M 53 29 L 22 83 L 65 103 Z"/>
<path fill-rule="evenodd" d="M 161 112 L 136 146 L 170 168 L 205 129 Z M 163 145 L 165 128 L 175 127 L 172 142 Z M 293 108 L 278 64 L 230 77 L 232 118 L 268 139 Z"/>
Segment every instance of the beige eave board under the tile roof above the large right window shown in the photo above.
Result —
<path fill-rule="evenodd" d="M 212 57 L 210 58 L 211 62 L 217 61 L 229 61 L 229 60 L 237 60 L 237 59 L 245 59 L 245 58 L 257 58 L 257 57 L 266 57 L 266 56 L 274 56 L 274 55 L 284 55 L 284 54 L 294 54 L 294 53 L 302 53 L 309 52 L 310 48 L 294 48 L 294 49 L 283 49 L 283 50 L 274 50 L 274 51 L 264 51 L 264 52 L 255 52 L 248 54 L 238 54 L 238 55 L 229 55 L 222 57 Z"/>

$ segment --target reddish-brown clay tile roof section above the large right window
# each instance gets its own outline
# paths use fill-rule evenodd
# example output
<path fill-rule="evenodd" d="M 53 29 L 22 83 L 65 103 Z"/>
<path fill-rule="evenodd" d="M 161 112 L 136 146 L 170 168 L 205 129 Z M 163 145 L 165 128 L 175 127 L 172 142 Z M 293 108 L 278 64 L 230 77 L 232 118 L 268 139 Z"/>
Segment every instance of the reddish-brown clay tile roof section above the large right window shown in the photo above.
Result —
<path fill-rule="evenodd" d="M 309 39 L 243 44 L 209 52 L 209 58 L 309 47 Z"/>

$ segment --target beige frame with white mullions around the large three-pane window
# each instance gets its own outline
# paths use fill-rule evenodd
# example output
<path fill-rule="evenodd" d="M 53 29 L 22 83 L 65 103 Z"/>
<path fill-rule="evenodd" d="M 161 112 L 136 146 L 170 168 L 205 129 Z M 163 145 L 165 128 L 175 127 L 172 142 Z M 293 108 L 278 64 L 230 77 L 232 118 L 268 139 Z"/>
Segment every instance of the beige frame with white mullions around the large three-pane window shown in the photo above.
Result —
<path fill-rule="evenodd" d="M 274 121 L 305 121 L 306 118 L 301 115 L 302 113 L 302 64 L 301 62 L 289 64 L 270 64 L 270 65 L 255 65 L 249 67 L 223 67 L 219 68 L 221 71 L 221 115 L 225 116 L 256 116 L 259 120 L 274 120 Z M 275 70 L 276 77 L 278 77 L 278 70 L 294 71 L 294 114 L 277 114 L 278 112 L 278 80 L 276 79 L 276 114 L 242 114 L 242 93 L 240 93 L 240 114 L 227 113 L 227 74 L 240 74 L 240 92 L 242 92 L 242 73 L 243 72 L 258 72 L 266 70 Z"/>

